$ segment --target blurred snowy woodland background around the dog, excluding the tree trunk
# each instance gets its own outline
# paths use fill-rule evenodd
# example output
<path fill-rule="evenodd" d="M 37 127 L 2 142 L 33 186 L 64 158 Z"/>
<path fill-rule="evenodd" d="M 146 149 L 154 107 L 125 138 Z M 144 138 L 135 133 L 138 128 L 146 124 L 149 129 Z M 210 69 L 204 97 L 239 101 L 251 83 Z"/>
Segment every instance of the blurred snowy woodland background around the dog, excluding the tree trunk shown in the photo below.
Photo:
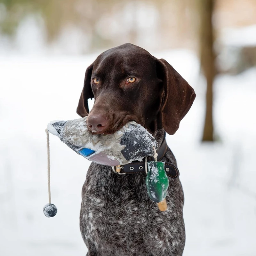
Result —
<path fill-rule="evenodd" d="M 154 1 L 67 2 L 82 12 L 80 23 L 72 22 L 60 1 L 44 2 L 49 10 L 59 7 L 66 15 L 60 20 L 70 18 L 60 22 L 57 33 L 49 30 L 59 24 L 51 12 L 23 12 L 29 1 L 0 0 L 0 255 L 86 254 L 79 211 L 90 162 L 50 135 L 52 202 L 58 213 L 46 218 L 44 130 L 51 120 L 78 118 L 86 67 L 100 52 L 132 42 L 166 59 L 197 94 L 180 129 L 167 135 L 185 194 L 183 255 L 256 256 L 256 59 L 248 64 L 243 55 L 256 48 L 256 2 L 216 1 L 220 72 L 214 81 L 214 143 L 201 141 L 206 84 L 195 28 L 189 27 L 196 17 L 191 1 L 167 1 L 163 15 Z M 91 13 L 91 23 L 84 23 L 83 13 Z"/>

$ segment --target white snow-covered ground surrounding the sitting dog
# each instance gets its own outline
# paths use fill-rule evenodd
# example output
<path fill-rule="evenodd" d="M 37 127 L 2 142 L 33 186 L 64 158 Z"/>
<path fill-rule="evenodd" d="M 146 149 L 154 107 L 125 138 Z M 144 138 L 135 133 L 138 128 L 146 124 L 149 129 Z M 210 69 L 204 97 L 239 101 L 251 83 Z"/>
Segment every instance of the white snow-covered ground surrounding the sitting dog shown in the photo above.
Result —
<path fill-rule="evenodd" d="M 256 69 L 215 82 L 219 141 L 200 143 L 203 79 L 188 51 L 156 53 L 197 97 L 175 135 L 167 136 L 185 193 L 184 256 L 256 255 Z M 51 120 L 75 119 L 84 72 L 95 56 L 0 58 L 0 255 L 84 256 L 81 188 L 90 164 L 50 136 L 52 202 L 48 219 L 46 135 Z"/>

